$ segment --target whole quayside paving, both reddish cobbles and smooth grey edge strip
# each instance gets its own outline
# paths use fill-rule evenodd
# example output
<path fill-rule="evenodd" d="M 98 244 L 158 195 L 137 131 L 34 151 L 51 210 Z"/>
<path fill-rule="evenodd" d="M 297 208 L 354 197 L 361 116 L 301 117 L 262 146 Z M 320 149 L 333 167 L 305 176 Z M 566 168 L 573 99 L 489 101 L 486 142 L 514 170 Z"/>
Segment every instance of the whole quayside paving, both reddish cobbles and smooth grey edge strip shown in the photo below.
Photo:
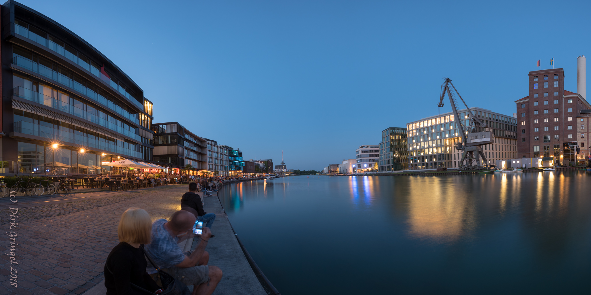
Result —
<path fill-rule="evenodd" d="M 9 280 L 7 255 L 0 255 L 0 294 L 82 294 L 102 283 L 106 256 L 118 244 L 117 224 L 129 207 L 146 209 L 152 220 L 168 218 L 180 207 L 186 185 L 125 192 L 22 198 L 18 202 L 18 288 Z M 9 205 L 0 199 L 0 222 L 9 230 Z M 210 265 L 224 272 L 215 294 L 265 294 L 229 228 L 218 199 L 205 199 L 207 212 L 219 214 L 216 237 L 207 251 Z M 211 209 L 210 209 L 211 207 Z M 13 206 L 14 208 L 14 206 Z M 226 222 L 226 224 L 224 224 Z M 2 251 L 9 237 L 2 238 Z M 233 241 L 233 242 L 232 242 Z M 233 247 L 233 248 L 232 248 Z M 2 253 L 0 253 L 2 254 Z"/>

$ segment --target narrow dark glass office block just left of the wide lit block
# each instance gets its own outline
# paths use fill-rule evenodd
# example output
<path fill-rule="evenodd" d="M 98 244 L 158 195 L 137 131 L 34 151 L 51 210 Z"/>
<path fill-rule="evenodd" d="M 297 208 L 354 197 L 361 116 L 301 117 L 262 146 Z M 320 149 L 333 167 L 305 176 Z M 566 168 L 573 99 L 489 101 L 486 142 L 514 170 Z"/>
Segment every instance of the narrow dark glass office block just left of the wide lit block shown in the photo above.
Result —
<path fill-rule="evenodd" d="M 404 127 L 389 127 L 382 131 L 379 143 L 378 172 L 408 169 L 407 130 Z"/>

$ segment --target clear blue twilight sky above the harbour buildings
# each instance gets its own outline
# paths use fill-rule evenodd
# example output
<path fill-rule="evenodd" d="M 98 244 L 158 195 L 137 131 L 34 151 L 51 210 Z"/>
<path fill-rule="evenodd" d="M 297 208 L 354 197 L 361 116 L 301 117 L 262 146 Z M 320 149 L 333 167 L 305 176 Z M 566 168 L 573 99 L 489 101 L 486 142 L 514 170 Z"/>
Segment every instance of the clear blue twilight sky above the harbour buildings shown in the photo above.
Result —
<path fill-rule="evenodd" d="M 21 2 L 119 65 L 154 123 L 245 159 L 279 163 L 283 150 L 289 169 L 355 158 L 387 127 L 449 112 L 443 77 L 469 106 L 512 116 L 538 59 L 576 91 L 576 58 L 591 56 L 589 1 Z"/>

